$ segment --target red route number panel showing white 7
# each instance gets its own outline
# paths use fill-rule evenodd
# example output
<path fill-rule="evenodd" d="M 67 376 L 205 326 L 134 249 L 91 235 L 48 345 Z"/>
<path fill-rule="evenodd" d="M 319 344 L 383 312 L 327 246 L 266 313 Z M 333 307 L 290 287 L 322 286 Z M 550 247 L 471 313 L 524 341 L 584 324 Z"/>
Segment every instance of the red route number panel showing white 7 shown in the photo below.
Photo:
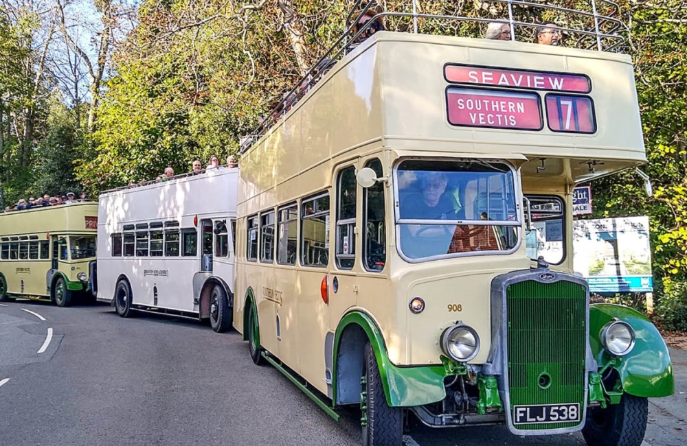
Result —
<path fill-rule="evenodd" d="M 594 133 L 594 104 L 587 96 L 546 95 L 546 119 L 554 132 Z"/>

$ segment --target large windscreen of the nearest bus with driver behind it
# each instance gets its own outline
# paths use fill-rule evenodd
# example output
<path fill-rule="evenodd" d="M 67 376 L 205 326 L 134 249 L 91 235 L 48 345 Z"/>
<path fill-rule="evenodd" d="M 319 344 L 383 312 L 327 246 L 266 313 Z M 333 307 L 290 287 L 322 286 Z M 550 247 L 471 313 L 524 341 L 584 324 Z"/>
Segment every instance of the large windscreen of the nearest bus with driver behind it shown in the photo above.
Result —
<path fill-rule="evenodd" d="M 482 160 L 403 161 L 396 170 L 398 237 L 411 261 L 510 251 L 519 226 L 513 169 Z"/>

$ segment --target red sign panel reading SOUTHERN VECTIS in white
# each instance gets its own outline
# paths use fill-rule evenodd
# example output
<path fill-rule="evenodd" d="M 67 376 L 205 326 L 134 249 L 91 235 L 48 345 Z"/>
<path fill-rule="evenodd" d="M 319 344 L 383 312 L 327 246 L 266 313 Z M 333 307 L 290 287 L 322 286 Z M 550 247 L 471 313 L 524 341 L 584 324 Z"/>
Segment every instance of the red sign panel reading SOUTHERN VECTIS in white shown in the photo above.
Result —
<path fill-rule="evenodd" d="M 446 90 L 449 123 L 453 126 L 541 130 L 537 93 L 449 87 Z"/>

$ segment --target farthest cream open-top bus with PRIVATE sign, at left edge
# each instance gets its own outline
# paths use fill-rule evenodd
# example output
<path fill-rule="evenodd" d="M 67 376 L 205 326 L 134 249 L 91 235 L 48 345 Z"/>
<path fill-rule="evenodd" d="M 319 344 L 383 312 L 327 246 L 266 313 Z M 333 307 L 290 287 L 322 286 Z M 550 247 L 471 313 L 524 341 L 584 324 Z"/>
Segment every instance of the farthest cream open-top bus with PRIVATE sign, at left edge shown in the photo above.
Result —
<path fill-rule="evenodd" d="M 91 296 L 98 203 L 0 214 L 0 301 L 50 298 L 60 307 Z"/>

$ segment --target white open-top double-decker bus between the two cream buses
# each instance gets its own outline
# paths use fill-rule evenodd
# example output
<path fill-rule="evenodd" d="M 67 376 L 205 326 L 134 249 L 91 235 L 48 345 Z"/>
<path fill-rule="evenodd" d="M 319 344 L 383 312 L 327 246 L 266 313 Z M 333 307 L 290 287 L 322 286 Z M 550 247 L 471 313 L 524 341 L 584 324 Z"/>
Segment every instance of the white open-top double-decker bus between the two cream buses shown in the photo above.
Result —
<path fill-rule="evenodd" d="M 107 191 L 98 206 L 98 301 L 117 314 L 232 326 L 238 169 Z"/>

